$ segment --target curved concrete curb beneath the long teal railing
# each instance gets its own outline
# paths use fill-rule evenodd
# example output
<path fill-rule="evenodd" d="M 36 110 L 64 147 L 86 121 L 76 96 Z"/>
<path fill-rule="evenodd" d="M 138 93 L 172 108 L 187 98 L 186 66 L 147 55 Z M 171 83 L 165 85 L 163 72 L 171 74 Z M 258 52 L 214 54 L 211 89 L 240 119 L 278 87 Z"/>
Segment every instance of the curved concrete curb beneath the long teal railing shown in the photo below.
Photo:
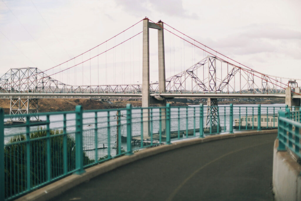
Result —
<path fill-rule="evenodd" d="M 143 159 L 152 155 L 156 155 L 162 152 L 170 151 L 173 149 L 178 149 L 184 146 L 190 146 L 194 144 L 199 143 L 205 143 L 210 142 L 214 140 L 223 140 L 228 138 L 234 138 L 234 137 L 244 137 L 244 136 L 250 136 L 250 135 L 259 135 L 259 134 L 269 134 L 269 133 L 277 133 L 277 130 L 262 130 L 262 131 L 247 131 L 243 133 L 232 133 L 232 134 L 222 134 L 222 135 L 213 135 L 213 136 L 206 136 L 204 138 L 197 138 L 197 139 L 191 139 L 191 140 L 183 140 L 180 142 L 174 142 L 170 145 L 164 145 L 164 146 L 157 146 L 151 149 L 144 149 L 139 152 L 136 152 L 133 155 L 125 155 L 104 163 L 101 163 L 99 165 L 95 165 L 91 168 L 85 169 L 85 173 L 77 175 L 72 174 L 70 176 L 67 176 L 59 181 L 56 181 L 52 184 L 49 184 L 45 187 L 42 187 L 38 190 L 33 191 L 32 193 L 26 194 L 16 200 L 49 200 L 55 196 L 60 195 L 61 193 L 69 190 L 70 188 L 73 188 L 85 181 L 90 180 L 93 177 L 96 177 L 100 174 L 106 173 L 108 171 L 111 171 L 115 168 L 118 168 L 120 166 L 126 165 L 128 163 L 137 161 L 139 159 Z"/>

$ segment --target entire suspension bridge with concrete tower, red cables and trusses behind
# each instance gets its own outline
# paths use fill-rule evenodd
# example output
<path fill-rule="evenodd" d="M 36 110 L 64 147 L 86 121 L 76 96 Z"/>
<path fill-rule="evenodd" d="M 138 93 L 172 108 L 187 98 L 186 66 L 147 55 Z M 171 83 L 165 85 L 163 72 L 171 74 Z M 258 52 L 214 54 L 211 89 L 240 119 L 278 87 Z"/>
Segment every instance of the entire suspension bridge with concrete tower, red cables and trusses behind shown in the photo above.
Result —
<path fill-rule="evenodd" d="M 11 100 L 10 114 L 38 112 L 41 98 L 136 98 L 145 108 L 172 98 L 209 98 L 211 106 L 217 98 L 286 98 L 300 106 L 298 82 L 263 74 L 146 17 L 54 67 L 10 69 L 0 77 L 0 98 Z"/>

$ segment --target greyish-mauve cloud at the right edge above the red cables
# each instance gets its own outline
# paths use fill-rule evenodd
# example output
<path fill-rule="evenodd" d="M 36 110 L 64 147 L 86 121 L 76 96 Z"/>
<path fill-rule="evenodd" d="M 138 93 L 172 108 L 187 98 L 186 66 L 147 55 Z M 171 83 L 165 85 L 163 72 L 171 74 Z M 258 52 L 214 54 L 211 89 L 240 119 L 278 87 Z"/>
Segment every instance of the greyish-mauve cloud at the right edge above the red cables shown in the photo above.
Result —
<path fill-rule="evenodd" d="M 288 30 L 280 25 L 252 25 L 216 40 L 203 39 L 205 44 L 227 55 L 256 55 L 281 53 L 291 58 L 301 55 L 301 32 Z"/>

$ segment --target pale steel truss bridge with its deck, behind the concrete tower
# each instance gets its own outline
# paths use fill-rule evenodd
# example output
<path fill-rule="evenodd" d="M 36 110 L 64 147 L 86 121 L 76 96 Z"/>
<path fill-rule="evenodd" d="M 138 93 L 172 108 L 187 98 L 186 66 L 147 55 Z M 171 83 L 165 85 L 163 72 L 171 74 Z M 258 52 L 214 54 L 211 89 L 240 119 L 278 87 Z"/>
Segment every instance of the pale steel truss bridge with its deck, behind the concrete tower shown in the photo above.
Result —
<path fill-rule="evenodd" d="M 166 78 L 165 82 L 165 93 L 159 93 L 158 82 L 151 83 L 151 96 L 284 98 L 285 87 L 295 87 L 301 80 L 260 74 L 238 68 L 214 56 L 207 56 L 185 71 Z M 38 68 L 13 68 L 0 77 L 0 98 L 141 98 L 141 92 L 139 84 L 68 85 Z"/>

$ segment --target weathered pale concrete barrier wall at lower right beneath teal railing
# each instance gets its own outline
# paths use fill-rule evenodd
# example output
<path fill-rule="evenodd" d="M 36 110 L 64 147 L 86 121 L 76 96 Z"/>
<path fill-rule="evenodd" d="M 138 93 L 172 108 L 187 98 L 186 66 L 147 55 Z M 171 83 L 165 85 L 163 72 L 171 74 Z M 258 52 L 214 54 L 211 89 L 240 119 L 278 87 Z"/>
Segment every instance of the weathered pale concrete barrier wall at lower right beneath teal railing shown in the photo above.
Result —
<path fill-rule="evenodd" d="M 287 151 L 278 151 L 274 143 L 273 192 L 276 201 L 301 200 L 301 165 Z"/>

